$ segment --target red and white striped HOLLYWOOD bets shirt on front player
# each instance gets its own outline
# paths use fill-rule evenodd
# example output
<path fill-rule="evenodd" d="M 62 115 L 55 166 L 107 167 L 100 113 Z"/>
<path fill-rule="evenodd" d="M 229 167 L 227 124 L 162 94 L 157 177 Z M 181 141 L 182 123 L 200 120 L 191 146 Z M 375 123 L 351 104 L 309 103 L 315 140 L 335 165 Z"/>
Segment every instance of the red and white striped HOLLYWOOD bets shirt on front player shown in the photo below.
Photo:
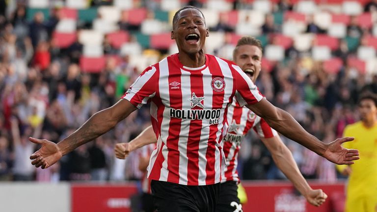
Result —
<path fill-rule="evenodd" d="M 206 54 L 199 68 L 184 67 L 178 53 L 149 66 L 124 95 L 140 108 L 151 101 L 157 149 L 148 166 L 150 180 L 181 185 L 220 182 L 228 105 L 263 97 L 233 62 Z M 223 160 L 223 161 L 221 161 Z"/>

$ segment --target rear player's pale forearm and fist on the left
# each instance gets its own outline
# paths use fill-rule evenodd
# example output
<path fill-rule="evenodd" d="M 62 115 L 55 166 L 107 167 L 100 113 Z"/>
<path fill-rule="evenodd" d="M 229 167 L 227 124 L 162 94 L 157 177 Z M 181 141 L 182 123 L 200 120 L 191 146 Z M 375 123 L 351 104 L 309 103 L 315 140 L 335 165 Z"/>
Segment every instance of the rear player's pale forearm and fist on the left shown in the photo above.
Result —
<path fill-rule="evenodd" d="M 145 145 L 156 143 L 156 134 L 153 131 L 152 125 L 147 127 L 137 137 L 128 143 L 117 143 L 114 147 L 115 156 L 118 159 L 126 159 L 130 152 L 143 147 Z"/>

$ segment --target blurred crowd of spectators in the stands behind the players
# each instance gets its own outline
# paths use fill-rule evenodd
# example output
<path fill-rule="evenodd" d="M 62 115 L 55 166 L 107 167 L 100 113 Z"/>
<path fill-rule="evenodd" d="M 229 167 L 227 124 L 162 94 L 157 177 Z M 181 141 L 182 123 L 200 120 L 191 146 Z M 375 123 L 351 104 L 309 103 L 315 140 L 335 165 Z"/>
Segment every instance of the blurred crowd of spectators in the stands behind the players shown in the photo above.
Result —
<path fill-rule="evenodd" d="M 64 2 L 63 0 L 57 2 Z M 158 1 L 137 1 L 139 7 L 150 11 L 159 7 Z M 148 3 L 147 3 L 148 2 Z M 248 1 L 235 0 L 235 9 L 247 9 Z M 93 0 L 90 6 L 111 5 L 111 0 Z M 190 0 L 186 4 L 205 7 L 203 1 Z M 117 127 L 94 142 L 83 145 L 64 156 L 49 169 L 36 169 L 29 156 L 38 147 L 28 136 L 58 142 L 79 128 L 92 114 L 113 105 L 138 77 L 140 70 L 132 65 L 128 54 L 119 54 L 106 41 L 107 57 L 100 72 L 81 69 L 79 60 L 82 44 L 75 41 L 67 48 L 57 48 L 52 34 L 60 20 L 60 8 L 52 6 L 49 18 L 35 13 L 27 19 L 24 0 L 0 0 L 0 181 L 124 181 L 137 180 L 142 173 L 137 169 L 137 157 L 115 159 L 114 144 L 128 142 L 150 125 L 149 107 L 132 113 Z M 276 11 L 293 9 L 290 0 L 274 5 Z M 365 4 L 366 10 L 377 11 L 376 1 Z M 90 23 L 77 26 L 90 28 Z M 120 30 L 140 30 L 119 22 Z M 211 31 L 234 33 L 237 29 L 219 19 Z M 264 35 L 281 31 L 281 25 L 269 15 L 260 29 Z M 313 23 L 307 31 L 326 33 Z M 368 30 L 348 27 L 351 36 L 362 37 Z M 211 39 L 211 36 L 207 39 Z M 233 46 L 224 42 L 214 54 L 229 57 Z M 167 50 L 159 51 L 159 58 Z M 340 45 L 332 52 L 346 58 L 351 51 Z M 377 73 L 377 72 L 376 72 Z M 310 133 L 323 142 L 341 137 L 347 124 L 358 120 L 357 98 L 363 90 L 377 93 L 376 73 L 362 72 L 345 62 L 339 72 L 328 72 L 323 63 L 311 59 L 308 52 L 294 47 L 285 52 L 285 59 L 264 67 L 256 82 L 260 91 L 275 106 L 292 114 Z M 292 151 L 301 172 L 307 179 L 334 182 L 340 176 L 334 164 L 283 137 Z M 245 137 L 240 152 L 239 172 L 242 179 L 284 179 L 267 151 L 254 134 Z M 133 153 L 137 154 L 137 153 Z"/>

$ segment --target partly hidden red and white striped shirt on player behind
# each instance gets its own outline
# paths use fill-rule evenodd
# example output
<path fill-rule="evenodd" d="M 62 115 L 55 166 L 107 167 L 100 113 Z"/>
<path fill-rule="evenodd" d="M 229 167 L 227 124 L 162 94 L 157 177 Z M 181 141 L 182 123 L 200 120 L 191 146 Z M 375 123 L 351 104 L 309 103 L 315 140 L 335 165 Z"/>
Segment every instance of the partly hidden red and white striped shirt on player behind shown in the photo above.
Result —
<path fill-rule="evenodd" d="M 277 135 L 277 132 L 269 127 L 269 124 L 263 118 L 255 115 L 249 108 L 240 106 L 236 101 L 233 101 L 232 106 L 228 108 L 228 123 L 228 133 L 223 139 L 226 160 L 221 183 L 240 181 L 237 172 L 238 152 L 243 137 L 251 128 L 264 138 Z"/>

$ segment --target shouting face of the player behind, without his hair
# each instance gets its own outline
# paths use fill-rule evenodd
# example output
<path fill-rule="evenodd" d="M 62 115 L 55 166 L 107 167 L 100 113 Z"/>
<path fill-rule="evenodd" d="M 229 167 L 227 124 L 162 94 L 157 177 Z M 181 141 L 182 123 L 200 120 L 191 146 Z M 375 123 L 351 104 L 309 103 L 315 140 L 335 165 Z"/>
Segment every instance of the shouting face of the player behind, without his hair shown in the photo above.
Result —
<path fill-rule="evenodd" d="M 234 55 L 234 62 L 255 82 L 261 72 L 262 51 L 257 46 L 239 46 Z"/>

